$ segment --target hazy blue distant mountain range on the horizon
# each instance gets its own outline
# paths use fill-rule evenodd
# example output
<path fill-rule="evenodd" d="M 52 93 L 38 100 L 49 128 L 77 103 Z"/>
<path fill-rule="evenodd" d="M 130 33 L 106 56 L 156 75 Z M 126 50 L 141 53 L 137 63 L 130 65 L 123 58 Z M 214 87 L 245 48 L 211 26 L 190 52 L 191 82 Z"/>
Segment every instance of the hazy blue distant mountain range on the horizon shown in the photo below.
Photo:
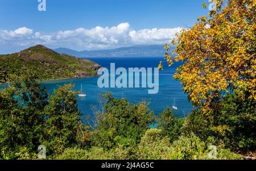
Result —
<path fill-rule="evenodd" d="M 162 57 L 166 53 L 164 45 L 134 45 L 132 47 L 96 51 L 74 51 L 68 48 L 57 48 L 54 51 L 76 57 Z"/>

